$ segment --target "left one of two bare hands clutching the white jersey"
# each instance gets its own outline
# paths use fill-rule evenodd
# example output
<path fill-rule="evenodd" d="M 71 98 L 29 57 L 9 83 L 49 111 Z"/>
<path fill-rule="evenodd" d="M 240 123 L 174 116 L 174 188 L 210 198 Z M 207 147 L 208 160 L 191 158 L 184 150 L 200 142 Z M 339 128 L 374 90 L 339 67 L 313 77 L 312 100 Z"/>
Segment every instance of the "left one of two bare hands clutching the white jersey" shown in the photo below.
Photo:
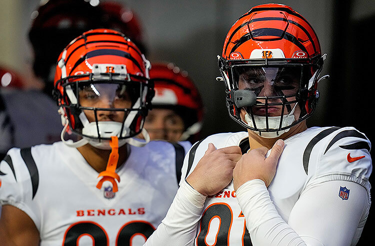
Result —
<path fill-rule="evenodd" d="M 204 196 L 214 195 L 231 182 L 233 168 L 241 156 L 238 146 L 216 150 L 215 146 L 209 143 L 208 149 L 186 182 Z"/>

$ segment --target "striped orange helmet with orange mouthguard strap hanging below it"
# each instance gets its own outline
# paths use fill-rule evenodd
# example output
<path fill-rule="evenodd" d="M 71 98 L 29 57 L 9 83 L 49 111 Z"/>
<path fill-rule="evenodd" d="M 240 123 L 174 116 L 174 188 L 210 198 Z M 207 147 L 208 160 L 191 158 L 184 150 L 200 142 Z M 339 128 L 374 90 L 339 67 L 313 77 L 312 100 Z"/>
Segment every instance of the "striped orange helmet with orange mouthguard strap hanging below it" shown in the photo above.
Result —
<path fill-rule="evenodd" d="M 70 146 L 86 143 L 110 149 L 109 140 L 118 137 L 141 146 L 149 141 L 143 129 L 151 98 L 150 63 L 124 34 L 94 29 L 75 38 L 58 57 L 54 96 L 60 106 L 62 123 L 82 137 Z M 145 136 L 138 141 L 133 136 Z M 67 143 L 69 145 L 69 143 Z"/>

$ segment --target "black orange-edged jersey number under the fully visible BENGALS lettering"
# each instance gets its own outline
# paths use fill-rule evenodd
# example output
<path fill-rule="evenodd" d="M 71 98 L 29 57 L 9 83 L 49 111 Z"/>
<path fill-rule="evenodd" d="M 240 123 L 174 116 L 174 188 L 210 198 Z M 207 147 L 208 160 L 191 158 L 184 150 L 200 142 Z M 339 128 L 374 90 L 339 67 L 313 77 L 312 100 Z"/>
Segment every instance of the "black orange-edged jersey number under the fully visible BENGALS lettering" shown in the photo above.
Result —
<path fill-rule="evenodd" d="M 141 235 L 146 240 L 155 231 L 153 226 L 146 221 L 130 221 L 124 224 L 116 237 L 116 245 L 130 246 L 131 240 L 136 235 Z M 108 235 L 105 230 L 92 221 L 82 221 L 71 225 L 65 232 L 63 246 L 77 246 L 79 239 L 89 236 L 93 246 L 108 246 Z"/>

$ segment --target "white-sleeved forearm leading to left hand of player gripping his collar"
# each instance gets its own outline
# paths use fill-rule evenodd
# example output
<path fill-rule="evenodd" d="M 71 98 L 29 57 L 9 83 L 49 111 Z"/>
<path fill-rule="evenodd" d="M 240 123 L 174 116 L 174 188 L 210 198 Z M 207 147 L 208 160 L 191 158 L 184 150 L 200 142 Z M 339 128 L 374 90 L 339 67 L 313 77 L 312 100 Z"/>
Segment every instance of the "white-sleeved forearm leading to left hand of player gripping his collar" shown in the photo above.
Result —
<path fill-rule="evenodd" d="M 205 198 L 183 182 L 165 218 L 144 246 L 193 245 Z"/>

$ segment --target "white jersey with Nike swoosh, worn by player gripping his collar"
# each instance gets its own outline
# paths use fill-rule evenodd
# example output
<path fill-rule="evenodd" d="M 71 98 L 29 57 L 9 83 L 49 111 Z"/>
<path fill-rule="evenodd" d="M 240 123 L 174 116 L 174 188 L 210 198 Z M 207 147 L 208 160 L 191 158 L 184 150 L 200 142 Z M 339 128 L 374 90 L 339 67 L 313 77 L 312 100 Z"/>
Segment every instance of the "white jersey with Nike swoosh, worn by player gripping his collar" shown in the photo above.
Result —
<path fill-rule="evenodd" d="M 181 182 L 195 168 L 208 143 L 213 143 L 216 149 L 237 145 L 242 154 L 249 149 L 247 132 L 209 136 L 194 144 L 186 155 Z M 326 181 L 355 182 L 367 190 L 370 201 L 368 178 L 372 166 L 369 150 L 368 139 L 349 127 L 313 127 L 286 139 L 276 174 L 268 187 L 278 214 L 288 222 L 301 193 Z M 350 187 L 337 187 L 337 202 L 349 197 Z M 362 213 L 356 234 L 360 235 L 363 229 L 368 208 Z M 251 245 L 232 182 L 216 195 L 207 197 L 194 245 Z"/>

